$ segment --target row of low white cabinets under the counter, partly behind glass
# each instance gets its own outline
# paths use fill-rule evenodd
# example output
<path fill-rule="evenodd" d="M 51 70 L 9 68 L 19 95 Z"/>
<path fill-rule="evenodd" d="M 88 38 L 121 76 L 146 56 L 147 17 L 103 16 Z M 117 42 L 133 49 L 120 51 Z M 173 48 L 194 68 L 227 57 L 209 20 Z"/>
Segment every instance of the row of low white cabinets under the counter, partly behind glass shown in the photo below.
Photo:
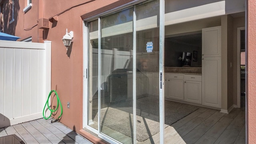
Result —
<path fill-rule="evenodd" d="M 128 74 L 128 98 L 132 98 L 132 74 Z M 159 96 L 159 74 L 144 72 L 136 74 L 136 95 Z M 164 75 L 165 98 L 202 104 L 202 76 L 187 74 Z"/>

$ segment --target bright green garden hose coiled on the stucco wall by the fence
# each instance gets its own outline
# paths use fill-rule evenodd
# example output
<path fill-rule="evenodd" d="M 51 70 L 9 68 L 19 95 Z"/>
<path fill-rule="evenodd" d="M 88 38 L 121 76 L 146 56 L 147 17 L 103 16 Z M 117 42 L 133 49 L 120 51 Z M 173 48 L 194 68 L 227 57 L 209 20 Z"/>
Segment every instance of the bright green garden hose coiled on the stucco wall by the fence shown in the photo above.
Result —
<path fill-rule="evenodd" d="M 57 106 L 56 106 L 56 109 L 54 108 L 55 110 L 54 110 L 54 109 L 52 110 L 52 109 L 50 108 L 50 106 L 49 106 L 49 103 L 48 103 L 48 102 L 49 102 L 49 98 L 51 97 L 52 92 L 54 92 L 54 93 L 56 94 L 56 98 L 57 98 Z M 52 112 L 56 112 L 56 110 L 58 110 L 59 103 L 60 103 L 60 108 L 61 108 L 60 116 L 59 116 L 55 121 L 52 121 L 52 123 L 58 121 L 59 118 L 62 116 L 62 105 L 61 105 L 60 98 L 59 98 L 57 92 L 56 92 L 55 90 L 51 90 L 50 93 L 49 93 L 49 95 L 48 95 L 48 99 L 47 99 L 47 101 L 46 101 L 46 103 L 45 103 L 45 105 L 44 105 L 44 110 L 45 110 L 45 107 L 46 107 L 46 104 L 47 104 L 48 109 L 51 111 L 51 114 L 50 114 L 50 116 L 48 116 L 48 117 L 46 118 L 46 117 L 44 116 L 44 110 L 43 110 L 43 117 L 44 117 L 44 119 L 48 120 L 48 119 L 52 116 Z"/>

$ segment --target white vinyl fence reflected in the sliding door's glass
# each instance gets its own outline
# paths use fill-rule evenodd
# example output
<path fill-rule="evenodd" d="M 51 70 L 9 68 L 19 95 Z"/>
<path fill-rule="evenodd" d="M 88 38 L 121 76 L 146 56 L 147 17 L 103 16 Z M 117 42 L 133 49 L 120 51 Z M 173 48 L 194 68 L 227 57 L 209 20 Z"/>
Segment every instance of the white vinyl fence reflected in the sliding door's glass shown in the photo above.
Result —
<path fill-rule="evenodd" d="M 127 60 L 132 60 L 132 50 L 119 51 L 116 48 L 112 50 L 101 50 L 101 85 L 106 82 L 107 77 L 116 69 L 122 69 L 126 65 Z M 138 52 L 136 54 L 137 63 L 140 60 L 147 60 L 148 67 L 158 69 L 158 52 Z M 98 90 L 98 49 L 92 48 L 92 93 L 95 94 Z M 132 62 L 132 61 L 130 61 Z M 141 70 L 140 68 L 138 68 Z M 151 70 L 152 72 L 154 70 Z M 103 86 L 102 86 L 103 87 Z"/>

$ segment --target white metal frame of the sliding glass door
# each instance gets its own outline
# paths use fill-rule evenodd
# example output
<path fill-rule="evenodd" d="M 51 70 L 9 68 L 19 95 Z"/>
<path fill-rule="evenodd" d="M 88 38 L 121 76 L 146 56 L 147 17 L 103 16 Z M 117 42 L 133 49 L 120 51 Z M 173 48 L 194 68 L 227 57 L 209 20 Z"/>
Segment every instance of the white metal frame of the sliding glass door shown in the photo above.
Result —
<path fill-rule="evenodd" d="M 100 18 L 101 16 L 106 16 L 108 14 L 111 14 L 112 12 L 117 12 L 119 10 L 128 8 L 129 6 L 134 7 L 134 23 L 133 23 L 133 47 L 135 47 L 135 50 L 133 50 L 133 81 L 136 81 L 136 4 L 140 2 L 144 2 L 146 0 L 138 0 L 136 2 L 131 2 L 128 4 L 125 4 L 123 6 L 114 8 L 110 11 L 98 14 L 92 18 L 88 18 L 83 20 L 83 128 L 86 128 L 93 132 L 94 134 L 97 134 L 99 138 L 102 138 L 103 140 L 106 140 L 108 142 L 111 142 L 113 144 L 118 143 L 116 140 L 111 138 L 110 136 L 107 136 L 104 133 L 101 133 L 101 128 L 100 124 L 98 124 L 98 130 L 92 128 L 91 126 L 88 125 L 88 77 L 89 77 L 89 32 L 88 32 L 88 22 L 91 22 L 92 20 L 98 19 L 98 91 L 100 90 L 100 80 L 101 80 L 101 27 L 100 27 Z M 164 5 L 165 5 L 165 0 L 159 0 L 160 8 L 159 8 L 159 15 L 160 15 L 160 26 L 159 26 L 159 109 L 160 109 L 160 144 L 164 144 Z M 98 94 L 98 122 L 100 122 L 100 101 L 101 101 L 101 96 L 100 93 Z M 136 83 L 133 84 L 133 112 L 136 113 Z M 133 135 L 133 142 L 134 144 L 136 143 L 136 117 L 133 118 L 134 122 L 134 135 Z"/>

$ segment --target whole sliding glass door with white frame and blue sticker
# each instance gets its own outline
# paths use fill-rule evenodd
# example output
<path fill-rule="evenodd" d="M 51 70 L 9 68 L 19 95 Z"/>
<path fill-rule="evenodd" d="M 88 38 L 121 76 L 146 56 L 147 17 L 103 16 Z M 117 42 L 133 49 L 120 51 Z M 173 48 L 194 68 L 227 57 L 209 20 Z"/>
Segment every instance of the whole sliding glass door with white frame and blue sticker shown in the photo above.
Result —
<path fill-rule="evenodd" d="M 160 1 L 87 23 L 86 128 L 111 143 L 159 143 L 164 120 Z"/>

